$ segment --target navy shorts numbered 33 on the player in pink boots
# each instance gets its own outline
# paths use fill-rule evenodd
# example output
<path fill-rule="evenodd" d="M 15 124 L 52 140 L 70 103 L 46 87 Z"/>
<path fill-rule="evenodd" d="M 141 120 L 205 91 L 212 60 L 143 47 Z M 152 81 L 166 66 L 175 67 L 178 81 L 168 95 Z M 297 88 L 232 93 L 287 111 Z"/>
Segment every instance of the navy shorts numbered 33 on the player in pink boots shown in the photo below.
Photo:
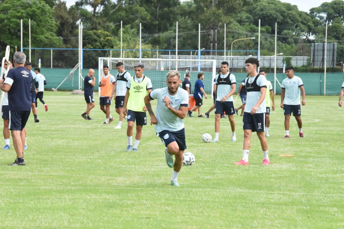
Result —
<path fill-rule="evenodd" d="M 251 115 L 249 112 L 244 112 L 243 129 L 252 130 L 252 132 L 265 131 L 265 113 Z"/>

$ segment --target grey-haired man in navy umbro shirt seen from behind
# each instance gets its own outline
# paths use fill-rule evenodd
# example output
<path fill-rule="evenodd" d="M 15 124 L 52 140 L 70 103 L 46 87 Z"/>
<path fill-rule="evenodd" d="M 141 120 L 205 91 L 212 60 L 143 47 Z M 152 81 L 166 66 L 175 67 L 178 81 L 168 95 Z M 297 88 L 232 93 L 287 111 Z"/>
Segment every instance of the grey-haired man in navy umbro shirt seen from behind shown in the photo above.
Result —
<path fill-rule="evenodd" d="M 0 89 L 8 94 L 9 127 L 17 159 L 9 165 L 25 165 L 23 152 L 25 145 L 24 128 L 31 110 L 32 74 L 24 68 L 26 55 L 16 52 L 13 55 L 15 69 L 8 71 L 7 77 L 0 83 Z"/>

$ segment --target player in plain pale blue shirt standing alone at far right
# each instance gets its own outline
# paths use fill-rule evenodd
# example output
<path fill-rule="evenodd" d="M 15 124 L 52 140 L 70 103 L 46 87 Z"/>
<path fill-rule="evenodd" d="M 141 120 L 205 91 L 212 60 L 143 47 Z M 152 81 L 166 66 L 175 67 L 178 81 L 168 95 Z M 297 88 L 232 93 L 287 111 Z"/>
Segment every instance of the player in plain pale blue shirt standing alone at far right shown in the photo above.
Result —
<path fill-rule="evenodd" d="M 286 136 L 289 138 L 289 120 L 291 112 L 298 122 L 299 136 L 304 137 L 302 133 L 302 120 L 301 120 L 301 106 L 300 106 L 300 90 L 302 92 L 302 106 L 306 105 L 303 82 L 300 77 L 294 75 L 294 68 L 287 67 L 286 75 L 288 78 L 282 81 L 281 93 L 281 108 L 284 113 L 284 128 L 286 129 Z"/>

